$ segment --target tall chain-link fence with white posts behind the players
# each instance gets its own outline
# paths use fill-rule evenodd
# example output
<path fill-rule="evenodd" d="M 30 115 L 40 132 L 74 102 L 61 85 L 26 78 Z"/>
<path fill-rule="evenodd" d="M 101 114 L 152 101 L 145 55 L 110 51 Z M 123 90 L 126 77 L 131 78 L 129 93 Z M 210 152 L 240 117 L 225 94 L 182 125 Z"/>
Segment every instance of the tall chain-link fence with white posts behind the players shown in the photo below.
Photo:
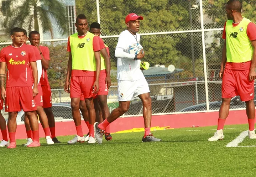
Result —
<path fill-rule="evenodd" d="M 151 66 L 144 71 L 144 75 L 151 91 L 152 112 L 163 114 L 205 111 L 207 104 L 209 110 L 218 110 L 222 84 L 218 73 L 224 42 L 222 30 L 226 21 L 226 2 L 227 0 L 0 0 L 0 48 L 11 44 L 9 33 L 15 26 L 25 28 L 28 32 L 38 30 L 42 45 L 50 49 L 48 78 L 53 93 L 55 117 L 71 119 L 70 97 L 63 90 L 68 62 L 68 36 L 76 32 L 75 18 L 80 13 L 86 15 L 89 24 L 100 22 L 101 37 L 110 48 L 112 86 L 108 106 L 111 111 L 118 107 L 117 59 L 114 57 L 114 50 L 118 35 L 126 29 L 126 15 L 137 13 L 144 17 L 139 34 L 140 43 L 146 52 L 143 61 L 149 62 Z M 242 14 L 256 22 L 256 1 L 242 1 L 242 5 Z M 175 70 L 170 72 L 167 69 L 169 65 L 174 65 Z M 245 108 L 245 103 L 235 97 L 231 108 Z M 142 103 L 137 97 L 132 100 L 125 115 L 141 114 Z"/>

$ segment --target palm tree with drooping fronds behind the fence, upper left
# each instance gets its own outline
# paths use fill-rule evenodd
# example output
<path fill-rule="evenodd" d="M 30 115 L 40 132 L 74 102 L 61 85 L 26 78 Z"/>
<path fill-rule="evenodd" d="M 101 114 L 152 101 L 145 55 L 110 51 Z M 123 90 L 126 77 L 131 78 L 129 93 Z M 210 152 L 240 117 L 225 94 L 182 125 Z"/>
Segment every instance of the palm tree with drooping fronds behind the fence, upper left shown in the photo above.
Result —
<path fill-rule="evenodd" d="M 14 27 L 25 27 L 28 32 L 33 29 L 49 31 L 53 39 L 53 23 L 57 24 L 63 34 L 68 31 L 65 6 L 58 0 L 10 0 L 11 8 L 4 21 L 5 29 L 10 32 Z"/>

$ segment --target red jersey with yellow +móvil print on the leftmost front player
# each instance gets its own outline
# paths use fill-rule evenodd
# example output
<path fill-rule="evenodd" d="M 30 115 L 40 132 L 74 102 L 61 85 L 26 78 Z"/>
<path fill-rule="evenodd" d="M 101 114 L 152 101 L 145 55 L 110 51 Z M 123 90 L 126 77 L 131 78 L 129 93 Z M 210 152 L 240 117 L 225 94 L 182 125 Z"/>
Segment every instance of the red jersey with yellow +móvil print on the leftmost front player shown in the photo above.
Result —
<path fill-rule="evenodd" d="M 30 62 L 36 60 L 33 48 L 28 45 L 2 48 L 0 62 L 7 65 L 6 87 L 32 87 Z"/>

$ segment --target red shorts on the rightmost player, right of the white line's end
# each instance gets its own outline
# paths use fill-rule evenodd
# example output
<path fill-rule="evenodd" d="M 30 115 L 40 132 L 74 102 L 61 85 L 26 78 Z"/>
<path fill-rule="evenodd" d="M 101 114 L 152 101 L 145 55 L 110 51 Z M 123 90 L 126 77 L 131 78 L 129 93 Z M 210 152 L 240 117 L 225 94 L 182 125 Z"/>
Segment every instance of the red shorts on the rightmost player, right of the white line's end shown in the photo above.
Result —
<path fill-rule="evenodd" d="M 249 70 L 224 70 L 222 98 L 240 96 L 241 101 L 254 99 L 254 81 L 249 81 Z"/>

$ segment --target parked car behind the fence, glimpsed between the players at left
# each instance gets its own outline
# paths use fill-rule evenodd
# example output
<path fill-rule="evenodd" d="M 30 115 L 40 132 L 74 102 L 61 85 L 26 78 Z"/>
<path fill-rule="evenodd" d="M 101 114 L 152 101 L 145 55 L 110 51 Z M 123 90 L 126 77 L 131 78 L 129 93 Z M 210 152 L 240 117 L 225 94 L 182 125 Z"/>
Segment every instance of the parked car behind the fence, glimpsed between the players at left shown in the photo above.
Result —
<path fill-rule="evenodd" d="M 55 120 L 62 120 L 62 119 L 72 119 L 72 111 L 70 104 L 67 103 L 53 103 L 52 104 L 52 111 Z M 79 110 L 80 111 L 80 110 Z M 80 111 L 80 115 L 82 118 L 82 113 Z M 22 111 L 18 113 L 17 121 L 24 121 L 25 114 Z"/>

